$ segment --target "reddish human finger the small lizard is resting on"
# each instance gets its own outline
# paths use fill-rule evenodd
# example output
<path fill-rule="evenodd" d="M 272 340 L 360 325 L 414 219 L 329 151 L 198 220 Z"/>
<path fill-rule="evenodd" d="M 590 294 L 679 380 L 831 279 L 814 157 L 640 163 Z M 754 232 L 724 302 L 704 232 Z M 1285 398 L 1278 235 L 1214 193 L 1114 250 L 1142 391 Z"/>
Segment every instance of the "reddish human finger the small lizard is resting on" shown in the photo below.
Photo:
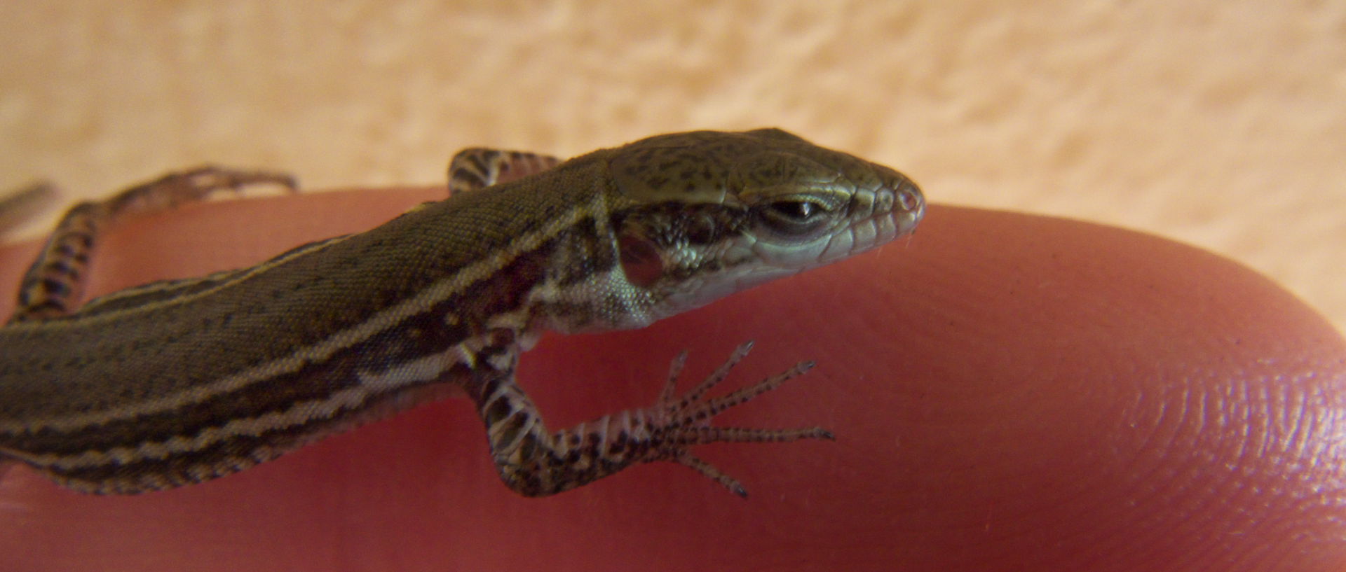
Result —
<path fill-rule="evenodd" d="M 108 238 L 92 294 L 252 265 L 436 195 L 140 219 Z M 0 250 L 5 313 L 34 251 Z M 106 571 L 1346 568 L 1346 342 L 1229 260 L 935 205 L 879 252 L 643 330 L 544 337 L 520 379 L 559 428 L 647 406 L 682 348 L 686 388 L 748 338 L 727 387 L 818 367 L 717 423 L 837 440 L 697 448 L 747 501 L 670 463 L 517 497 L 470 404 L 447 400 L 139 497 L 15 467 L 0 553 L 12 569 Z"/>

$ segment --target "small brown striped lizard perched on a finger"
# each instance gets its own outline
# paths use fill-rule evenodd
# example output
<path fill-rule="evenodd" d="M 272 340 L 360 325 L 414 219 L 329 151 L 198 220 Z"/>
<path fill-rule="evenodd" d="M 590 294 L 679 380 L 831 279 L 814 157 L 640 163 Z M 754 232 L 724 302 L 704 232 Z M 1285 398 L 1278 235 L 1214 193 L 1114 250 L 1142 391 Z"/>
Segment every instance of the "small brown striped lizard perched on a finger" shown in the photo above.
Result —
<path fill-rule="evenodd" d="M 0 328 L 0 458 L 78 491 L 136 494 L 466 395 L 520 494 L 666 461 L 746 497 L 690 447 L 832 439 L 711 424 L 813 363 L 705 397 L 748 342 L 676 395 L 684 352 L 653 406 L 551 431 L 514 381 L 520 354 L 544 330 L 642 328 L 875 248 L 925 212 L 907 176 L 779 129 L 662 134 L 568 161 L 471 148 L 448 180 L 447 199 L 373 230 L 82 306 L 109 226 L 221 189 L 296 185 L 205 166 L 73 207 Z"/>

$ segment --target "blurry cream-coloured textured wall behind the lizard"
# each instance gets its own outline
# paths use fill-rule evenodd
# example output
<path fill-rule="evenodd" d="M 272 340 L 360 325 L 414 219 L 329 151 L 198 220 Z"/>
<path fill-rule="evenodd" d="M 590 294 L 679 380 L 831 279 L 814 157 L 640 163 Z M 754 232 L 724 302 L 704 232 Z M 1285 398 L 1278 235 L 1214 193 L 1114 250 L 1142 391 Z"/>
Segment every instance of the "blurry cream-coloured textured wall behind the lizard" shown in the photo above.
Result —
<path fill-rule="evenodd" d="M 630 4 L 5 0 L 0 188 L 431 184 L 466 145 L 777 125 L 935 201 L 1215 250 L 1346 325 L 1346 3 Z"/>

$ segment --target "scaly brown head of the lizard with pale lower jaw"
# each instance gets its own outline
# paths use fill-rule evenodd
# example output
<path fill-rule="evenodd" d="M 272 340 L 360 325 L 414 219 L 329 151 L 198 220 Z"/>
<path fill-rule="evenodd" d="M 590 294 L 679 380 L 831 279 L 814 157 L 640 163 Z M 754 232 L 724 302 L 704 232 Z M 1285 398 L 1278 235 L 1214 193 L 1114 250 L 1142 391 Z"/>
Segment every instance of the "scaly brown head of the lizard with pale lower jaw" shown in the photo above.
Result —
<path fill-rule="evenodd" d="M 618 258 L 649 321 L 878 247 L 925 213 L 902 173 L 779 129 L 657 136 L 608 166 Z"/>

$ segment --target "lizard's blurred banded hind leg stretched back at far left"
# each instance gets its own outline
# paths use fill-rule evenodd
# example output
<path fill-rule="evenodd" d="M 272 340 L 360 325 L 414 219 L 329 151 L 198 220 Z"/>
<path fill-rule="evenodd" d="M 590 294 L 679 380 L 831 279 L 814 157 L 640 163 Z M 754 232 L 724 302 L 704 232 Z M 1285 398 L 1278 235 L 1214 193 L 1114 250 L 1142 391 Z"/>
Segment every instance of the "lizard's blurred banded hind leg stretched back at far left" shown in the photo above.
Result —
<path fill-rule="evenodd" d="M 19 286 L 19 305 L 9 324 L 66 316 L 79 303 L 86 270 L 108 227 L 140 215 L 168 211 L 203 200 L 215 191 L 253 184 L 296 188 L 289 175 L 199 166 L 170 173 L 118 192 L 110 199 L 79 203 L 66 211 Z"/>

